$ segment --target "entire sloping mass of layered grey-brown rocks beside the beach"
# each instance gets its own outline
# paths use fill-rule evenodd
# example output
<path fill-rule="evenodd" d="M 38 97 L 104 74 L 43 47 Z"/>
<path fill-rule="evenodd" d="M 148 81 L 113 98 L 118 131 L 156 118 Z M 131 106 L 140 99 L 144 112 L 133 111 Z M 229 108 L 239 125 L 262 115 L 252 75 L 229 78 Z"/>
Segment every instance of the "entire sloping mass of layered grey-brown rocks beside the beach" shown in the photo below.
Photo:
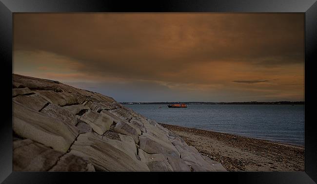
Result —
<path fill-rule="evenodd" d="M 13 74 L 14 171 L 226 171 L 96 92 Z"/>

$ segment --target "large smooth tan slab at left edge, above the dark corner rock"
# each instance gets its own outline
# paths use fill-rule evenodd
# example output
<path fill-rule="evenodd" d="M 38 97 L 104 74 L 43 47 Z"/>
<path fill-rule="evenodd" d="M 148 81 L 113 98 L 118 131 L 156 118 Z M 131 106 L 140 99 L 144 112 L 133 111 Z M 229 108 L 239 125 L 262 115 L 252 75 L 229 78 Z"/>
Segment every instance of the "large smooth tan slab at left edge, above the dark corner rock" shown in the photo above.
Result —
<path fill-rule="evenodd" d="M 21 137 L 66 152 L 79 134 L 71 123 L 13 102 L 13 131 Z"/>

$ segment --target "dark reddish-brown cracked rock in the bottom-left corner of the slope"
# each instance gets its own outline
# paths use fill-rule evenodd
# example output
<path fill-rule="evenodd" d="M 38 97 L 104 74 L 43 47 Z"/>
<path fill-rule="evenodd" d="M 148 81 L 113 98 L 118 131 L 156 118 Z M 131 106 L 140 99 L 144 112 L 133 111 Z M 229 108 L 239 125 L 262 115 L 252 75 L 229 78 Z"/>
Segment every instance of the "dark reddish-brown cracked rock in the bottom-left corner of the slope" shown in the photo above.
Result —
<path fill-rule="evenodd" d="M 30 139 L 18 139 L 13 145 L 14 171 L 95 171 L 82 157 L 63 153 Z"/>

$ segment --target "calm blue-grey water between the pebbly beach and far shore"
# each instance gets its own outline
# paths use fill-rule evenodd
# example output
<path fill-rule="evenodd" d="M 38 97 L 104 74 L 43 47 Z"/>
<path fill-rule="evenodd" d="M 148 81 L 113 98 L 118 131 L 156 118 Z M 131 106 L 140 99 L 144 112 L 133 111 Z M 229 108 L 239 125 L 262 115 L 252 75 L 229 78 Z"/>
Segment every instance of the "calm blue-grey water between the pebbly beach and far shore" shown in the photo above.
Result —
<path fill-rule="evenodd" d="M 304 146 L 304 105 L 124 106 L 159 123 Z"/>

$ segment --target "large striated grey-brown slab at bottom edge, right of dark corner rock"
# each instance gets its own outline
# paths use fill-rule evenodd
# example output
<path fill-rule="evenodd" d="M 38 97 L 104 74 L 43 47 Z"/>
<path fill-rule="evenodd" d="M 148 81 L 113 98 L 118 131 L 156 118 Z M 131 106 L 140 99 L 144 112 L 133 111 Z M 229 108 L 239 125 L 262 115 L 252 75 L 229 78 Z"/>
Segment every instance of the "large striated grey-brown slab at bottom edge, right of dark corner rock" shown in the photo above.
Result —
<path fill-rule="evenodd" d="M 70 153 L 88 158 L 99 171 L 149 171 L 133 149 L 124 144 L 90 132 L 80 134 Z"/>

